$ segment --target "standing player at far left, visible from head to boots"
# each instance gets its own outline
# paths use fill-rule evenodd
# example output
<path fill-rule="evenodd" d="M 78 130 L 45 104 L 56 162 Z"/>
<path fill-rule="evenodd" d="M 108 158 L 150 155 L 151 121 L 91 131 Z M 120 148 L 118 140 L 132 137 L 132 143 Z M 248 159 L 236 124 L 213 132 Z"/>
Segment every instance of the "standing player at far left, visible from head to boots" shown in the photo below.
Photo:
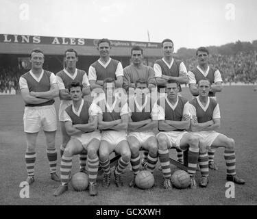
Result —
<path fill-rule="evenodd" d="M 27 166 L 27 183 L 34 182 L 34 166 L 36 162 L 36 138 L 40 128 L 44 130 L 47 140 L 47 157 L 49 159 L 51 179 L 60 181 L 56 175 L 57 152 L 56 139 L 56 108 L 54 98 L 58 96 L 56 76 L 42 68 L 44 54 L 40 49 L 34 49 L 29 55 L 32 69 L 21 75 L 19 85 L 21 96 L 25 102 L 23 115 L 24 132 L 27 138 L 25 162 Z"/>

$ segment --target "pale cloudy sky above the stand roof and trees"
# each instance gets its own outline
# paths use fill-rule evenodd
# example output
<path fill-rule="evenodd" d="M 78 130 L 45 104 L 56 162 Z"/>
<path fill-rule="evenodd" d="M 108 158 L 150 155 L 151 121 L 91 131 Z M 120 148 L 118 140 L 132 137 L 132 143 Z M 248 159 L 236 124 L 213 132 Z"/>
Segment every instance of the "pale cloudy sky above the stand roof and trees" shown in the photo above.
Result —
<path fill-rule="evenodd" d="M 176 51 L 257 40 L 256 12 L 256 0 L 0 0 L 0 34 L 171 38 Z"/>

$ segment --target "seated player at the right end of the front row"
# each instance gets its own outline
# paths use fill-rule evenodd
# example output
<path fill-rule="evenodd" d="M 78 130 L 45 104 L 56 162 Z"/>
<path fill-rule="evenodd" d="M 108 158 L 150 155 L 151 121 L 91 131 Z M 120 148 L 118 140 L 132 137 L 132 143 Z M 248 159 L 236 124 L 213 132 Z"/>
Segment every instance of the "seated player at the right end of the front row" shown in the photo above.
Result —
<path fill-rule="evenodd" d="M 236 176 L 236 155 L 234 139 L 216 132 L 221 124 L 219 104 L 208 96 L 211 86 L 208 79 L 198 82 L 199 96 L 185 105 L 185 113 L 191 114 L 191 131 L 204 138 L 207 147 L 215 149 L 224 147 L 224 158 L 227 166 L 227 180 L 237 184 L 245 181 Z M 201 167 L 201 163 L 200 163 Z"/>

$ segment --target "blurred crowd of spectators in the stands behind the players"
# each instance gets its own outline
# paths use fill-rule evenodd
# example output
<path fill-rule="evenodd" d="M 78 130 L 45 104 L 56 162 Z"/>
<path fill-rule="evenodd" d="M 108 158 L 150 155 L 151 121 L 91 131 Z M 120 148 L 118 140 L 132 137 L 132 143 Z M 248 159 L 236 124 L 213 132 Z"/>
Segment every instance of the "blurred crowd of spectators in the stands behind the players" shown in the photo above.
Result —
<path fill-rule="evenodd" d="M 188 70 L 197 66 L 196 57 L 183 60 Z M 236 55 L 210 54 L 210 66 L 218 68 L 224 83 L 257 83 L 257 53 L 237 53 Z M 19 91 L 19 77 L 27 70 L 18 67 L 0 66 L 0 94 L 13 94 Z"/>

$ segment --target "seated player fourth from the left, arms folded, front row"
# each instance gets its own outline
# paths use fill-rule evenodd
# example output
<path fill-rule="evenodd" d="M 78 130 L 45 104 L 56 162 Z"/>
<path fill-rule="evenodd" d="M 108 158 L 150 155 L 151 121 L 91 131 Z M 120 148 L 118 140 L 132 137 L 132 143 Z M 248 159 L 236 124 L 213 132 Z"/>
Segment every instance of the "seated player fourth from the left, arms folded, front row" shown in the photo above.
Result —
<path fill-rule="evenodd" d="M 201 168 L 201 187 L 207 186 L 208 154 L 203 142 L 186 130 L 190 127 L 190 116 L 184 113 L 184 105 L 188 102 L 182 96 L 178 96 L 179 83 L 173 80 L 166 82 L 167 97 L 158 100 L 159 124 L 158 129 L 158 153 L 162 173 L 164 176 L 164 188 L 171 188 L 171 167 L 169 162 L 169 150 L 171 147 L 188 151 L 188 174 L 191 176 L 191 188 L 197 188 L 195 172 L 197 162 Z M 201 148 L 201 149 L 200 149 Z"/>

